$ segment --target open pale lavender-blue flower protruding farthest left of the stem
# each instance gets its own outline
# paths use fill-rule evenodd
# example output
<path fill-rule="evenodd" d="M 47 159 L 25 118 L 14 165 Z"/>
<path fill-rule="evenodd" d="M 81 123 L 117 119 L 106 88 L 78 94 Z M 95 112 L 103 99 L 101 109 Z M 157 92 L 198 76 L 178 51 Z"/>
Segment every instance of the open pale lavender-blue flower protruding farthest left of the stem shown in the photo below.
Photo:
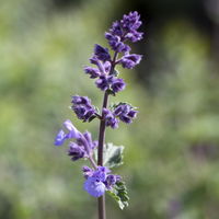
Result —
<path fill-rule="evenodd" d="M 68 130 L 67 132 L 65 132 L 62 129 L 60 129 L 55 138 L 55 146 L 61 146 L 66 139 L 69 138 L 80 138 L 81 132 L 72 125 L 72 123 L 67 119 L 64 123 L 64 127 Z"/>

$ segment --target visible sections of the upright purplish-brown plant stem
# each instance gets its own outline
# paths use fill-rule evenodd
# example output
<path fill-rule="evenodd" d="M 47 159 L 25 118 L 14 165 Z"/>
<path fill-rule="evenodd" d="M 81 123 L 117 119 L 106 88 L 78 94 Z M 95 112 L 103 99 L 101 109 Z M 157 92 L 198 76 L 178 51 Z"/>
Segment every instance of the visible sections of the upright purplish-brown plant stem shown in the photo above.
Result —
<path fill-rule="evenodd" d="M 110 74 L 112 74 L 114 71 L 114 68 L 116 65 L 116 57 L 117 57 L 117 51 L 114 54 Z M 108 102 L 108 92 L 105 91 L 104 99 L 103 99 L 103 105 L 102 105 L 102 118 L 103 118 L 103 108 L 107 107 L 107 102 Z M 105 128 L 106 128 L 105 119 L 101 119 L 100 130 L 99 130 L 97 165 L 103 165 L 103 149 L 104 149 L 104 141 L 105 141 Z M 106 219 L 105 195 L 103 195 L 99 198 L 99 219 Z"/>

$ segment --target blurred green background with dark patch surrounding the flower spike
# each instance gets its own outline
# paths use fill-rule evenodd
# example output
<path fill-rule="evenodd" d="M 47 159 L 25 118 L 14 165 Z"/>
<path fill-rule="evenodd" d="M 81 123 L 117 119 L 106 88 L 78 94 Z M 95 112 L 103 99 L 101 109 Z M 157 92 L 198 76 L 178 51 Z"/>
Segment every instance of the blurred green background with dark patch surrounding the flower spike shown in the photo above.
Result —
<path fill-rule="evenodd" d="M 66 118 L 97 137 L 69 110 L 72 94 L 101 105 L 102 92 L 82 67 L 95 43 L 124 13 L 137 10 L 143 55 L 123 70 L 126 91 L 112 102 L 139 107 L 131 126 L 107 130 L 124 145 L 115 170 L 130 203 L 107 198 L 108 218 L 219 218 L 218 0 L 0 1 L 0 218 L 95 219 L 96 200 L 82 188 L 82 161 L 53 146 Z"/>

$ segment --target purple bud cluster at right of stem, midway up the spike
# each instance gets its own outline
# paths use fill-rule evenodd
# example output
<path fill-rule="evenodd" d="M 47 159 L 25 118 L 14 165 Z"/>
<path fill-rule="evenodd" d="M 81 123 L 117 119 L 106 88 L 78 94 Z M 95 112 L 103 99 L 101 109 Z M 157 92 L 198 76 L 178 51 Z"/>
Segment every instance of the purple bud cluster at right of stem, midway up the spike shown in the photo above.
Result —
<path fill-rule="evenodd" d="M 130 124 L 132 119 L 137 116 L 137 111 L 129 104 L 123 103 L 118 104 L 114 108 L 114 115 L 117 116 L 122 122 Z"/>

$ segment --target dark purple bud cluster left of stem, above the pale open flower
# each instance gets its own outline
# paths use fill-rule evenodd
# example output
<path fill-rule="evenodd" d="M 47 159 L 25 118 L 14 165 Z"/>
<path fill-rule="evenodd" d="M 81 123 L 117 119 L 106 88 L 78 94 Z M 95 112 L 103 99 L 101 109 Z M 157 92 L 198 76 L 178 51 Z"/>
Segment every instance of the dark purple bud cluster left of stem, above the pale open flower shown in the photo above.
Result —
<path fill-rule="evenodd" d="M 76 113 L 79 119 L 88 122 L 96 113 L 91 100 L 88 96 L 72 96 L 71 108 Z"/>

